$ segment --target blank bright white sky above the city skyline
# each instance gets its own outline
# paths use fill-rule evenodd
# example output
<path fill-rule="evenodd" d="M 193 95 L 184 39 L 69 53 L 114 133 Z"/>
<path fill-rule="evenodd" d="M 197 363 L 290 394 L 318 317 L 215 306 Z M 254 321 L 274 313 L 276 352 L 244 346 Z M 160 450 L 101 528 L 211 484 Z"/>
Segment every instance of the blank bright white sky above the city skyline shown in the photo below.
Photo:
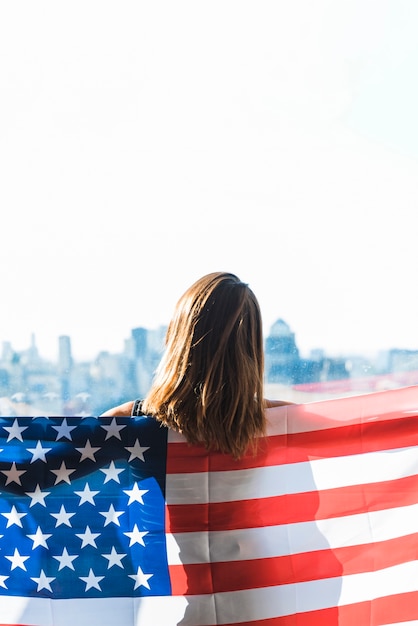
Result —
<path fill-rule="evenodd" d="M 415 0 L 0 5 L 0 341 L 119 352 L 201 274 L 418 349 Z"/>

